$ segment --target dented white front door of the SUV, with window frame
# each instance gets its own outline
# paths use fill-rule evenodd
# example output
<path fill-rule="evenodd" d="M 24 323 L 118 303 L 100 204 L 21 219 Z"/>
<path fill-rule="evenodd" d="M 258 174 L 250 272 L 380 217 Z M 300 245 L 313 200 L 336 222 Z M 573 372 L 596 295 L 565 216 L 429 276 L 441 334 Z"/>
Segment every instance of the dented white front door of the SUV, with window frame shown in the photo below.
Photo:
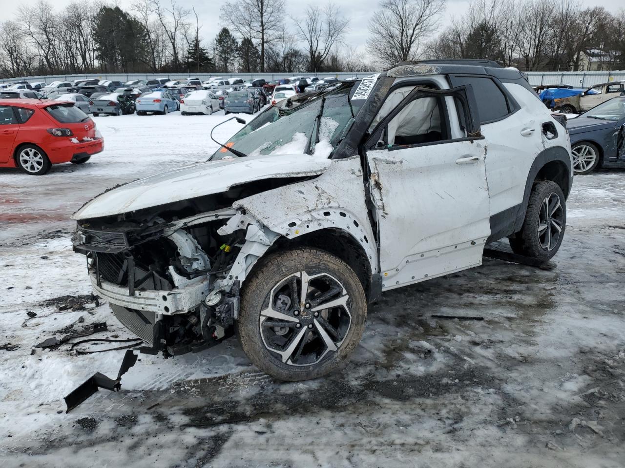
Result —
<path fill-rule="evenodd" d="M 416 88 L 367 141 L 383 290 L 481 264 L 486 145 L 467 92 Z"/>

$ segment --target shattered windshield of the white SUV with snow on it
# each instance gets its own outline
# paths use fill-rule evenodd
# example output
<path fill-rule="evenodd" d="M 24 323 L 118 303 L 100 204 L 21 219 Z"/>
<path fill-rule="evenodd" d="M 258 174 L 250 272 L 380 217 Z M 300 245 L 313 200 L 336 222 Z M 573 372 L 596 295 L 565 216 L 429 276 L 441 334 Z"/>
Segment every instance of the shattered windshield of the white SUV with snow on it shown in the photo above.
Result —
<path fill-rule="evenodd" d="M 270 107 L 243 127 L 227 143 L 248 156 L 310 154 L 330 156 L 352 122 L 351 87 L 314 97 L 292 110 Z M 231 94 L 232 95 L 232 94 Z M 211 160 L 236 157 L 219 149 Z"/>

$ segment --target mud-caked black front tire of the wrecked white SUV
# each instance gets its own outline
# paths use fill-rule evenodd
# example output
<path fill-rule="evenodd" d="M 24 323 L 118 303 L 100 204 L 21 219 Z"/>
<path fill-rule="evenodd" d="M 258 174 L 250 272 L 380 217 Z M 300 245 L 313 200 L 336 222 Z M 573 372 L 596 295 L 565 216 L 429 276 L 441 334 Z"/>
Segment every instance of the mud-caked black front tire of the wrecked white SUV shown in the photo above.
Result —
<path fill-rule="evenodd" d="M 306 308 L 302 307 L 300 300 L 296 301 L 301 297 L 303 283 L 302 277 L 297 275 L 302 275 L 302 272 L 311 276 L 319 275 L 310 278 L 305 302 L 310 300 L 311 307 Z M 296 293 L 295 296 L 288 293 L 288 297 L 294 299 L 289 299 L 289 305 L 284 308 L 290 320 L 267 317 L 265 314 L 270 302 L 286 305 L 284 298 L 287 296 L 283 288 L 291 291 L 291 281 L 296 283 Z M 327 288 L 327 293 L 324 288 Z M 282 293 L 278 296 L 280 291 Z M 315 300 L 320 300 L 324 294 L 326 298 L 319 306 L 337 298 L 344 299 L 345 306 L 314 311 Z M 282 302 L 276 303 L 277 297 L 282 298 Z M 295 306 L 291 307 L 291 304 Z M 275 310 L 274 306 L 271 309 Z M 346 313 L 347 310 L 349 313 Z M 247 278 L 242 289 L 241 312 L 236 330 L 243 351 L 257 368 L 276 379 L 301 381 L 324 376 L 345 361 L 362 337 L 366 318 L 367 301 L 356 273 L 344 261 L 324 250 L 297 248 L 268 256 Z M 271 323 L 286 326 L 263 327 L 262 323 L 267 319 Z M 326 328 L 328 324 L 332 325 Z M 321 328 L 331 333 L 326 333 L 324 338 L 320 333 Z M 298 336 L 303 338 L 297 341 Z M 286 357 L 281 357 L 279 351 L 267 349 L 265 339 L 274 339 L 277 343 L 284 341 L 281 352 Z M 326 339 L 335 344 L 336 350 L 330 349 Z M 295 341 L 304 343 L 301 344 L 302 349 L 293 344 Z M 276 341 L 270 343 L 275 344 Z M 290 346 L 295 348 L 289 353 Z M 300 360 L 301 363 L 298 363 Z"/>

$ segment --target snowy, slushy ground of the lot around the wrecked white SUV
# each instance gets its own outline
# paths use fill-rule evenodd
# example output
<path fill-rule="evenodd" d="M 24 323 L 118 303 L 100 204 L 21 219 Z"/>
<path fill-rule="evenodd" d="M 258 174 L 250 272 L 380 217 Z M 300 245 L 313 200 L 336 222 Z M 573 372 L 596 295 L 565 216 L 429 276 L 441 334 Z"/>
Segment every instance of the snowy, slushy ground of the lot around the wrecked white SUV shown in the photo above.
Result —
<path fill-rule="evenodd" d="M 385 293 L 351 361 L 327 378 L 273 381 L 229 339 L 175 359 L 141 355 L 121 392 L 65 414 L 63 397 L 95 371 L 115 376 L 124 351 L 34 344 L 80 329 L 81 316 L 108 323 L 91 338 L 131 336 L 85 296 L 71 213 L 118 183 L 206 160 L 217 149 L 209 132 L 225 119 L 97 117 L 106 148 L 88 163 L 45 177 L 0 169 L 2 468 L 625 466 L 619 171 L 575 178 L 553 270 L 485 259 Z"/>

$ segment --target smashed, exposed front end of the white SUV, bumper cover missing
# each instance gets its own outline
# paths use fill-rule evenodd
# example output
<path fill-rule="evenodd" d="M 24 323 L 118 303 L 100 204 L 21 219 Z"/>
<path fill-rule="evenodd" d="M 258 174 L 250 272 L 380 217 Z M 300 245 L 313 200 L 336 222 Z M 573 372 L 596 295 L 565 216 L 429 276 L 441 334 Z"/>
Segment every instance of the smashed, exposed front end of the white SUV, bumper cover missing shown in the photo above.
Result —
<path fill-rule="evenodd" d="M 202 197 L 78 220 L 74 251 L 86 255 L 94 291 L 146 343 L 139 351 L 176 356 L 232 334 L 239 286 L 278 235 L 216 204 Z"/>

